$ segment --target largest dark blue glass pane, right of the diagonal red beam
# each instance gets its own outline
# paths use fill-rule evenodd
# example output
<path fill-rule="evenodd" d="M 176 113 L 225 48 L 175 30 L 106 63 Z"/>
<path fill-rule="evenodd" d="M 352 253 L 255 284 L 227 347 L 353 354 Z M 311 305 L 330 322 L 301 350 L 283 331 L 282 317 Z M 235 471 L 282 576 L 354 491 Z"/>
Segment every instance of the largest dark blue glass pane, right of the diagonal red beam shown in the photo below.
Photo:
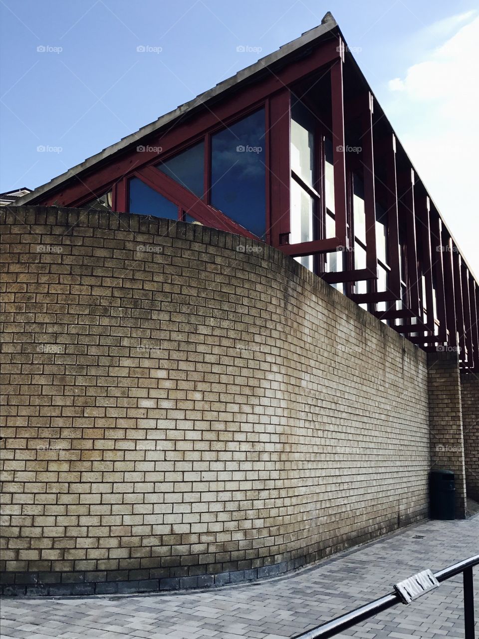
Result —
<path fill-rule="evenodd" d="M 266 233 L 264 109 L 211 139 L 211 204 L 258 237 Z"/>

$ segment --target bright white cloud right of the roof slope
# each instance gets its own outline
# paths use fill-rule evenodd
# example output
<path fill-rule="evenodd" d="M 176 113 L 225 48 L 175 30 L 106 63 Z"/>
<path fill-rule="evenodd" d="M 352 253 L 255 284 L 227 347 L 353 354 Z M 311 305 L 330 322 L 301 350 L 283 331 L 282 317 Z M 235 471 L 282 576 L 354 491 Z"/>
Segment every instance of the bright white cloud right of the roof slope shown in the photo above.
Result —
<path fill-rule="evenodd" d="M 388 83 L 390 108 L 406 152 L 477 275 L 479 17 L 469 12 L 430 30 L 443 34 L 451 25 L 454 35 Z"/>

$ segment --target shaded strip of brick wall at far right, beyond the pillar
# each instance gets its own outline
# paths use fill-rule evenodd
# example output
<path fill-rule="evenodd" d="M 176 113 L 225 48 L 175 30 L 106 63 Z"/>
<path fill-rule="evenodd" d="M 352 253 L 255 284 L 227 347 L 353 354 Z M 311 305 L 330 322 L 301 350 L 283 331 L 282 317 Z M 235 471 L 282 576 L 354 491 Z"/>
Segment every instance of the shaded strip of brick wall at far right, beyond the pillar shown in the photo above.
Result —
<path fill-rule="evenodd" d="M 479 501 L 479 378 L 461 373 L 462 430 L 464 431 L 464 464 L 468 497 Z"/>

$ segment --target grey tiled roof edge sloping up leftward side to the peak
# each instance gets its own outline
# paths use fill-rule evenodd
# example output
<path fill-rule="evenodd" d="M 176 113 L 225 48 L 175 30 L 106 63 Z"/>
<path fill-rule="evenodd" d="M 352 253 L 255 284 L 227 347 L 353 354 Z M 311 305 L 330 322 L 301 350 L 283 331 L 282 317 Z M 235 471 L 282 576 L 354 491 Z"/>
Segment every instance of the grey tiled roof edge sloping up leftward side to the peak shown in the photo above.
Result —
<path fill-rule="evenodd" d="M 128 146 L 137 144 L 139 140 L 141 140 L 146 135 L 151 135 L 154 132 L 160 130 L 165 125 L 171 125 L 171 123 L 179 118 L 180 116 L 184 116 L 186 113 L 190 111 L 194 111 L 198 107 L 202 107 L 208 102 L 216 102 L 220 96 L 223 96 L 227 91 L 231 89 L 237 89 L 240 84 L 246 84 L 247 82 L 255 81 L 259 79 L 259 76 L 265 72 L 265 69 L 271 65 L 281 65 L 281 63 L 286 63 L 288 58 L 295 57 L 301 49 L 305 49 L 310 47 L 313 43 L 316 45 L 319 43 L 319 40 L 324 40 L 324 36 L 327 36 L 333 29 L 338 26 L 336 20 L 333 18 L 333 15 L 328 12 L 324 15 L 323 20 L 321 20 L 321 24 L 309 31 L 305 31 L 299 38 L 296 40 L 292 40 L 285 45 L 282 45 L 277 51 L 270 53 L 268 56 L 264 56 L 264 58 L 260 58 L 253 65 L 247 66 L 242 69 L 232 77 L 219 82 L 215 87 L 209 89 L 208 91 L 204 91 L 204 93 L 200 93 L 195 98 L 190 100 L 189 102 L 185 102 L 185 104 L 179 105 L 174 111 L 170 111 L 160 118 L 156 119 L 154 122 L 146 125 L 145 127 L 141 127 L 135 133 L 130 135 L 126 135 L 119 142 L 112 144 L 111 146 L 107 146 L 107 148 L 100 151 L 100 153 L 96 153 L 96 155 L 92 155 L 87 158 L 77 166 L 72 167 L 65 173 L 53 178 L 46 184 L 43 184 L 40 187 L 37 187 L 33 190 L 33 192 L 27 194 L 26 196 L 20 198 L 17 201 L 17 204 L 21 206 L 22 204 L 28 204 L 33 199 L 38 196 L 43 195 L 48 192 L 50 189 L 56 189 L 61 184 L 70 180 L 71 178 L 77 176 L 82 173 L 86 169 L 94 166 L 98 162 L 109 158 L 110 156 L 118 153 L 119 151 L 124 151 Z"/>

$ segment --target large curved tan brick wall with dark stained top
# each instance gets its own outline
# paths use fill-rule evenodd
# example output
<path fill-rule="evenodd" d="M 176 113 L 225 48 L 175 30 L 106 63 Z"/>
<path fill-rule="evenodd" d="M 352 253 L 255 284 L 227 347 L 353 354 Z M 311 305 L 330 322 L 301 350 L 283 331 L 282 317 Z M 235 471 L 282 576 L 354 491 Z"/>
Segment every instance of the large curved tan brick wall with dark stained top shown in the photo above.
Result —
<path fill-rule="evenodd" d="M 5 592 L 251 579 L 425 516 L 406 339 L 238 236 L 1 216 Z"/>

